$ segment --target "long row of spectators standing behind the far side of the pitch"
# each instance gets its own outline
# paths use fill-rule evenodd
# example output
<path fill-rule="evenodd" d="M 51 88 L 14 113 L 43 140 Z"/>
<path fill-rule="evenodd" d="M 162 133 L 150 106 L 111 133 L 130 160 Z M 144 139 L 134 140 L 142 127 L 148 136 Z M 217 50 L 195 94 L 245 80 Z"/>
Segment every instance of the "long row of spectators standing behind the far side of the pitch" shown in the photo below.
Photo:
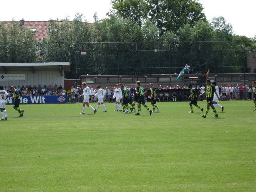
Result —
<path fill-rule="evenodd" d="M 66 91 L 61 85 L 57 86 L 56 84 L 54 86 L 41 86 L 38 84 L 38 86 L 34 85 L 32 86 L 15 86 L 20 93 L 21 96 L 51 96 L 51 95 L 66 95 L 67 102 L 69 103 L 77 103 L 77 102 L 83 102 L 83 98 L 78 98 L 79 95 L 82 94 L 82 90 L 78 86 L 72 86 L 68 91 Z M 198 90 L 198 95 L 202 94 L 204 92 L 204 85 L 197 85 L 192 86 L 192 88 L 195 88 Z M 254 87 L 248 86 L 248 85 L 236 85 L 235 87 L 233 85 L 226 85 L 226 86 L 219 86 L 219 93 L 220 98 L 222 100 L 252 100 L 253 99 L 253 93 L 254 93 Z M 115 92 L 115 87 L 105 87 L 102 88 L 104 91 L 104 102 L 115 102 L 113 99 L 113 95 Z M 129 86 L 128 87 L 131 95 L 135 91 L 135 87 Z M 148 90 L 147 94 L 145 95 L 145 100 L 149 100 L 150 98 L 150 87 L 146 86 L 146 90 Z M 4 90 L 8 92 L 10 96 L 12 96 L 12 92 L 10 92 L 10 86 L 4 87 Z M 95 97 L 96 94 L 96 87 L 90 86 L 90 90 L 92 91 L 92 99 L 90 99 L 90 102 L 97 102 L 97 98 Z M 171 91 L 170 91 L 171 90 Z M 156 99 L 158 101 L 182 101 L 182 100 L 188 100 L 188 96 L 190 95 L 190 90 L 188 86 L 156 86 Z M 205 100 L 206 95 L 204 95 L 200 100 Z"/>

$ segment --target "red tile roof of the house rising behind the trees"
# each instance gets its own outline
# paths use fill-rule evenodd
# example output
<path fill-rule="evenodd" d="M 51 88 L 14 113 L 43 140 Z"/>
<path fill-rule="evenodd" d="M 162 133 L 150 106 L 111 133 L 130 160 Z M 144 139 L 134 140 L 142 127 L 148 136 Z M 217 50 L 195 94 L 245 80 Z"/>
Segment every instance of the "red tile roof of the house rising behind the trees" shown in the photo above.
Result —
<path fill-rule="evenodd" d="M 22 21 L 21 21 L 22 22 Z M 4 21 L 4 25 L 12 23 L 11 21 Z M 48 21 L 24 21 L 24 26 L 30 29 L 36 29 L 36 40 L 40 41 L 43 37 L 48 38 L 47 26 Z"/>

